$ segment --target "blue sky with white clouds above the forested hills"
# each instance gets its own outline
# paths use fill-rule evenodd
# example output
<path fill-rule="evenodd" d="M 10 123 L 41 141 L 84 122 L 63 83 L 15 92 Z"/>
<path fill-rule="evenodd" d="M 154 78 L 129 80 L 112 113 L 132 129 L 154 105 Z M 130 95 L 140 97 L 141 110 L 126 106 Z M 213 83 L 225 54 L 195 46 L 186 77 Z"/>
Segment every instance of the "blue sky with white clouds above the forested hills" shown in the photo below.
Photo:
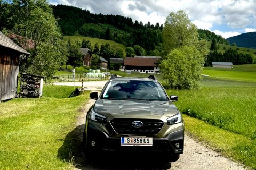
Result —
<path fill-rule="evenodd" d="M 171 12 L 186 11 L 197 28 L 223 38 L 256 31 L 256 0 L 49 0 L 91 13 L 131 17 L 133 21 L 164 24 Z"/>

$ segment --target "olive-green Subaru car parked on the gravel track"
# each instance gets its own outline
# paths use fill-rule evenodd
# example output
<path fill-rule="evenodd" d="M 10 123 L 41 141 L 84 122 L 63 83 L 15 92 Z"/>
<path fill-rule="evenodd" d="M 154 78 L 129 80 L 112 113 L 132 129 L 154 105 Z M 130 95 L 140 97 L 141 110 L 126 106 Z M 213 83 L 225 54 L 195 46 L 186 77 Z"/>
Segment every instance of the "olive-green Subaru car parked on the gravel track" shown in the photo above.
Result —
<path fill-rule="evenodd" d="M 85 154 L 97 151 L 162 152 L 170 162 L 184 146 L 183 118 L 156 77 L 116 77 L 98 92 L 86 116 Z"/>

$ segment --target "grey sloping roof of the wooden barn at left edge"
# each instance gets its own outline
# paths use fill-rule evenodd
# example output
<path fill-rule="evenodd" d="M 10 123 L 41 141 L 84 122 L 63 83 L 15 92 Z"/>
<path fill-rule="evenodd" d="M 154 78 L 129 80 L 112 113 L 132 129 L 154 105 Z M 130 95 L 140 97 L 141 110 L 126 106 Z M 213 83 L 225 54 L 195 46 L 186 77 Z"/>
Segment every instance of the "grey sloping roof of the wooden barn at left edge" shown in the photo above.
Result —
<path fill-rule="evenodd" d="M 16 50 L 17 52 L 30 55 L 30 53 L 28 53 L 25 49 L 15 44 L 10 38 L 5 36 L 2 32 L 0 32 L 0 46 L 11 48 L 13 50 Z"/>

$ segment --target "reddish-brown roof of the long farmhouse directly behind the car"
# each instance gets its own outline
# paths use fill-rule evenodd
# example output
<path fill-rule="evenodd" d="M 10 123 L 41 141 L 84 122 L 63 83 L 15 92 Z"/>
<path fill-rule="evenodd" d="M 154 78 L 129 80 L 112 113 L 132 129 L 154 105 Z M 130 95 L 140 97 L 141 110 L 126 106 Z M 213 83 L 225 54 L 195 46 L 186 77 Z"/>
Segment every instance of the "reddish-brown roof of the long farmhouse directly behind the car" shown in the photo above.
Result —
<path fill-rule="evenodd" d="M 157 58 L 124 58 L 124 66 L 156 66 Z"/>

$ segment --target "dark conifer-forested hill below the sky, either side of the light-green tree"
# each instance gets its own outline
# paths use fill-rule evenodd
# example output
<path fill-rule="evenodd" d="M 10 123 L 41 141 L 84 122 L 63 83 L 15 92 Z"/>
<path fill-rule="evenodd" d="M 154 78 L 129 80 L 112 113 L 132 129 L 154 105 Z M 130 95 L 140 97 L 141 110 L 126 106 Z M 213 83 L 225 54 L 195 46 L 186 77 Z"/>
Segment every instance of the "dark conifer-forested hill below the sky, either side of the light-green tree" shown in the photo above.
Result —
<path fill-rule="evenodd" d="M 114 40 L 125 46 L 140 45 L 147 51 L 162 48 L 163 24 L 142 23 L 120 15 L 93 14 L 88 10 L 66 5 L 52 5 L 63 35 L 78 31 L 87 37 Z M 209 30 L 198 30 L 199 38 L 227 44 L 226 39 Z"/>

